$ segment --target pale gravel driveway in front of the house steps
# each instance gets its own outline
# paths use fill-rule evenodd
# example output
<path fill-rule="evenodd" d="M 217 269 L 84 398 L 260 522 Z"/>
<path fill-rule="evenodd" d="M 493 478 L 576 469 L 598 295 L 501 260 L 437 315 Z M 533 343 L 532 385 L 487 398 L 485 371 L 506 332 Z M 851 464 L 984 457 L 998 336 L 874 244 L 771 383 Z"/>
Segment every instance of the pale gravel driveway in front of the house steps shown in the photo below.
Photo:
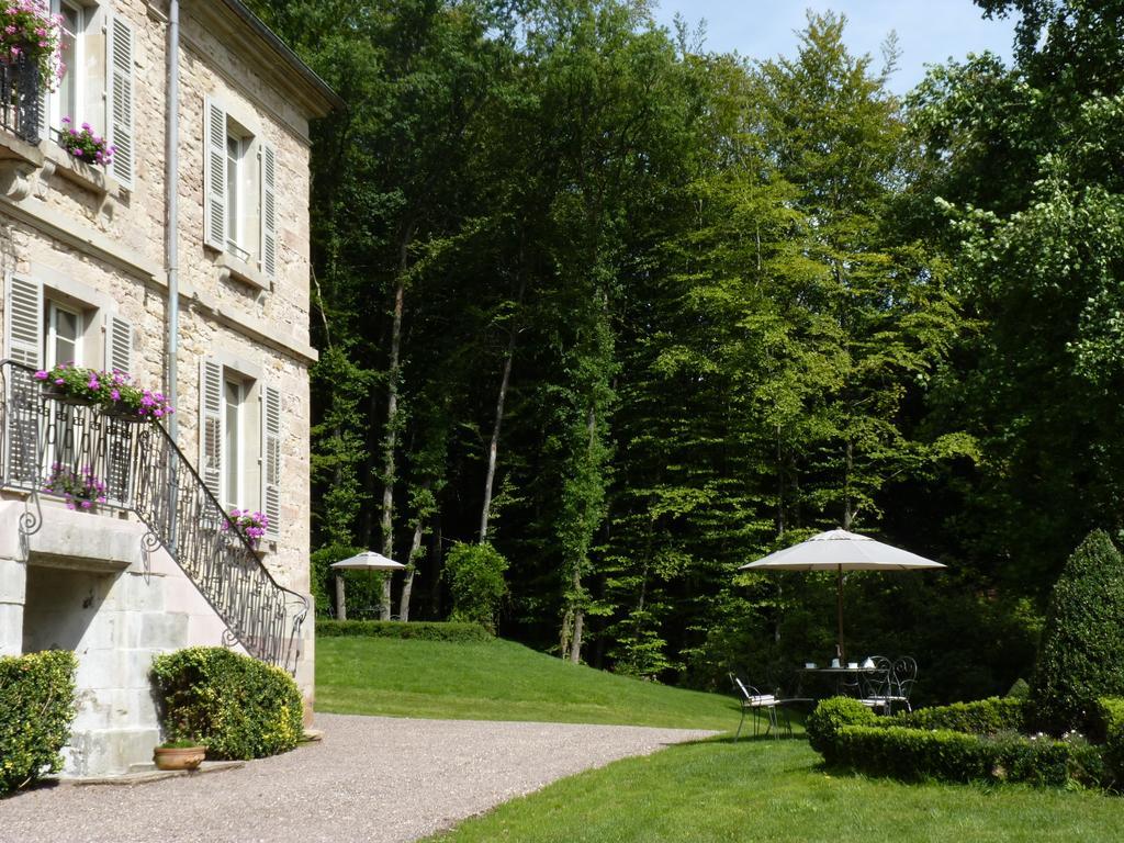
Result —
<path fill-rule="evenodd" d="M 238 770 L 0 800 L 0 841 L 397 843 L 555 779 L 710 732 L 317 715 L 324 741 Z"/>

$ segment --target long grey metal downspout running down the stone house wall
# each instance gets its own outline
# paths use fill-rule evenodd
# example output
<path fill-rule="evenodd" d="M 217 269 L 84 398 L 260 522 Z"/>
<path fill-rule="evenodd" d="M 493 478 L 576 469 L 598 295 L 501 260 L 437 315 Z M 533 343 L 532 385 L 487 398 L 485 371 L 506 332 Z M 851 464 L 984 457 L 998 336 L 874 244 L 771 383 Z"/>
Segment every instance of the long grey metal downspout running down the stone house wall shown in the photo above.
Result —
<path fill-rule="evenodd" d="M 179 241 L 179 185 L 180 185 L 180 2 L 167 4 L 167 126 L 164 135 L 164 190 L 166 191 L 167 219 L 164 224 L 164 251 L 167 262 L 167 400 L 176 413 L 180 409 L 179 354 L 180 354 L 180 241 Z M 179 416 L 173 413 L 167 420 L 167 432 L 179 444 Z"/>

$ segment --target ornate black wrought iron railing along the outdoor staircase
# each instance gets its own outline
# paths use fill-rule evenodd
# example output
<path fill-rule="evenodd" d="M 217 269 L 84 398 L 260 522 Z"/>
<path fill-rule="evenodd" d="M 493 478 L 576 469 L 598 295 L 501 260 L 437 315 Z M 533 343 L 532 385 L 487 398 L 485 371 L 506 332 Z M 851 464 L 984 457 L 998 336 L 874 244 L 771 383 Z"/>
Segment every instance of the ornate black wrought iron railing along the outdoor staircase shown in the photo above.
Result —
<path fill-rule="evenodd" d="M 225 643 L 296 671 L 308 598 L 273 579 L 167 432 L 46 389 L 33 369 L 0 361 L 0 488 L 38 506 L 39 495 L 62 497 L 69 479 L 92 475 L 105 502 L 91 507 L 136 513 L 145 551 L 171 554 L 223 618 Z M 29 515 L 25 529 L 40 517 Z"/>

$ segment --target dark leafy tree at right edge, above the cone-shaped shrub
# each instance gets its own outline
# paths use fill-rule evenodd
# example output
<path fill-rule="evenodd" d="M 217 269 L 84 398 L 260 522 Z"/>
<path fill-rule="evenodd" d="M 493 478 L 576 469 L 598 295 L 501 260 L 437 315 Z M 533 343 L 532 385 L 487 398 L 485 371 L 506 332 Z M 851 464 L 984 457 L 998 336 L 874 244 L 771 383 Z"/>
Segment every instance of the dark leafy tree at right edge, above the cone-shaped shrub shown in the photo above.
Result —
<path fill-rule="evenodd" d="M 1124 8 L 981 0 L 1019 16 L 1015 63 L 971 57 L 913 93 L 919 225 L 970 317 L 936 380 L 934 427 L 979 443 L 950 477 L 950 537 L 1008 588 L 1049 588 L 1094 526 L 1118 528 L 1124 470 L 1120 166 Z"/>

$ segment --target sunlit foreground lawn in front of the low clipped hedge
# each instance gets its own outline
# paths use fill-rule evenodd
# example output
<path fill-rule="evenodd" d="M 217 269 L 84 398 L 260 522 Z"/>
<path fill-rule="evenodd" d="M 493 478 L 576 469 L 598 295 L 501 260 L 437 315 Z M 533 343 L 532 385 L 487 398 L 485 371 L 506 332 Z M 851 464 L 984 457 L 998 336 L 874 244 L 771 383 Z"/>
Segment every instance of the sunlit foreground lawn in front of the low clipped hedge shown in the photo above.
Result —
<path fill-rule="evenodd" d="M 826 774 L 799 740 L 673 746 L 499 806 L 434 843 L 1003 843 L 1124 840 L 1124 801 L 1026 786 Z"/>

